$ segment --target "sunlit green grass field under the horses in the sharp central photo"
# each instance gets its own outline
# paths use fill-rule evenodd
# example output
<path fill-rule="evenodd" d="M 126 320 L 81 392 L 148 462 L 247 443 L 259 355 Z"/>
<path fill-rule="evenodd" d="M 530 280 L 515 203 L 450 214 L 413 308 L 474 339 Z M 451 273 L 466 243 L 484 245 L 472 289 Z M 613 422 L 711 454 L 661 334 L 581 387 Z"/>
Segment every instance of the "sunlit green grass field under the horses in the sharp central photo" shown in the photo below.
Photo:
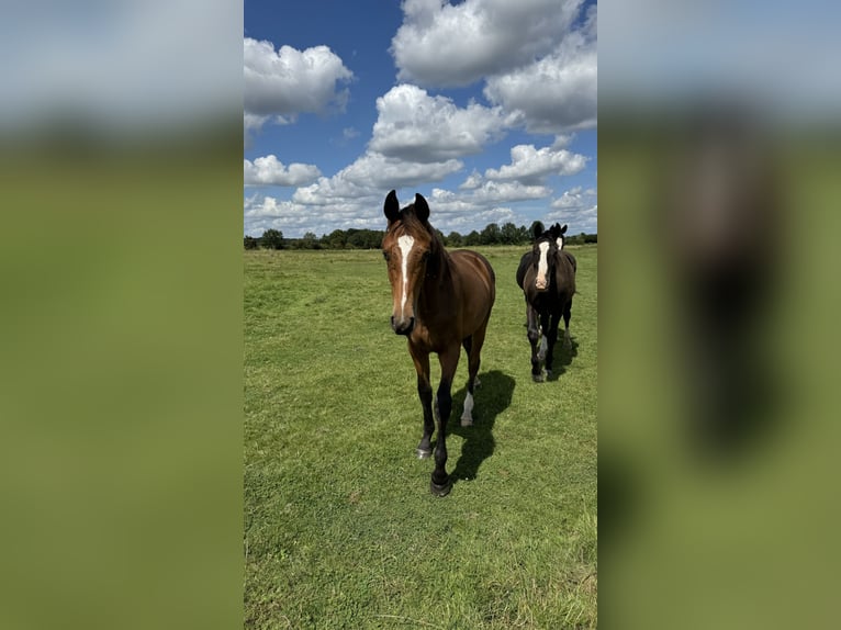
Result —
<path fill-rule="evenodd" d="M 453 382 L 444 498 L 381 254 L 244 254 L 247 627 L 596 627 L 597 249 L 571 248 L 573 349 L 539 384 L 525 248 L 476 249 L 497 297 L 472 427 L 463 352 Z"/>

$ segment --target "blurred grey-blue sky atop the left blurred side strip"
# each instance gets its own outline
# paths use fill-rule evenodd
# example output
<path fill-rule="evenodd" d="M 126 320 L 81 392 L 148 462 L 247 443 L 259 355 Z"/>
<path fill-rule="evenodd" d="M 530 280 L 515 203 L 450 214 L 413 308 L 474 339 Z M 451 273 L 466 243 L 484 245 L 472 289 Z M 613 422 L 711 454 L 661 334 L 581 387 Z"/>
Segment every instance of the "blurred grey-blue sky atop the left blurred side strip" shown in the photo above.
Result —
<path fill-rule="evenodd" d="M 69 115 L 79 133 L 148 138 L 229 116 L 242 110 L 242 23 L 231 2 L 4 2 L 0 134 Z"/>

